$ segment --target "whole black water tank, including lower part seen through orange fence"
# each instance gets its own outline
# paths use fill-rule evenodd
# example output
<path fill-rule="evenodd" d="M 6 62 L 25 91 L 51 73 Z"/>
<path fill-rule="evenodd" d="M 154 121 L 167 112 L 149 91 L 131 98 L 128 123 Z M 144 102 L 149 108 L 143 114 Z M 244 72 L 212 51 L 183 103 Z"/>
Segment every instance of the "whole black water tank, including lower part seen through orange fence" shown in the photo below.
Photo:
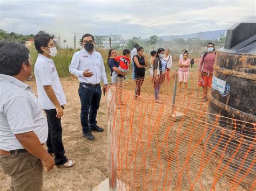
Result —
<path fill-rule="evenodd" d="M 256 23 L 239 23 L 227 30 L 225 46 L 216 54 L 208 112 L 210 124 L 215 122 L 215 115 L 225 116 L 218 120 L 217 125 L 221 128 L 212 131 L 212 125 L 208 126 L 207 134 L 211 132 L 208 148 L 213 149 L 218 144 L 217 153 L 228 148 L 225 161 L 232 157 L 242 138 L 239 152 L 231 162 L 226 162 L 232 172 L 244 176 L 255 160 Z M 231 130 L 230 135 L 223 135 L 222 130 Z M 254 145 L 248 150 L 251 144 Z M 242 162 L 245 157 L 247 159 Z M 255 180 L 255 172 L 254 165 L 244 179 L 245 185 Z"/>

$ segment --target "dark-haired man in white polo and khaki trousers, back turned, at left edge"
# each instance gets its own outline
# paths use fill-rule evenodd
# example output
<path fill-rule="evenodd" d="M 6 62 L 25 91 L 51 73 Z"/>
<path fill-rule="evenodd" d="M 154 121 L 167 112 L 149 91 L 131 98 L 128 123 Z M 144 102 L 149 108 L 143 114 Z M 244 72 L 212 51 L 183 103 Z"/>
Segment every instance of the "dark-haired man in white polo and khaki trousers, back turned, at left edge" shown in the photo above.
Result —
<path fill-rule="evenodd" d="M 0 42 L 0 164 L 11 176 L 11 190 L 42 190 L 54 160 L 43 148 L 48 128 L 35 94 L 25 83 L 31 75 L 29 50 Z"/>

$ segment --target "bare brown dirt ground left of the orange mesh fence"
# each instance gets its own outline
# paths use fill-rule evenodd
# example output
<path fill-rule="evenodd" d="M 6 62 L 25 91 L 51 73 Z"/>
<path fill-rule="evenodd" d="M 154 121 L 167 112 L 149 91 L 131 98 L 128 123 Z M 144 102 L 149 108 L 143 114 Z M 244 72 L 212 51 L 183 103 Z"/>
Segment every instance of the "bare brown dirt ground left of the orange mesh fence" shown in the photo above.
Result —
<path fill-rule="evenodd" d="M 104 128 L 102 133 L 93 133 L 95 140 L 83 137 L 80 125 L 79 83 L 75 77 L 61 79 L 68 103 L 62 117 L 63 143 L 66 156 L 76 161 L 70 169 L 54 168 L 44 174 L 44 190 L 92 190 L 108 177 L 107 157 L 107 97 L 102 96 L 98 110 L 98 125 Z M 36 93 L 36 82 L 28 84 Z M 0 168 L 0 190 L 9 189 L 10 178 Z"/>

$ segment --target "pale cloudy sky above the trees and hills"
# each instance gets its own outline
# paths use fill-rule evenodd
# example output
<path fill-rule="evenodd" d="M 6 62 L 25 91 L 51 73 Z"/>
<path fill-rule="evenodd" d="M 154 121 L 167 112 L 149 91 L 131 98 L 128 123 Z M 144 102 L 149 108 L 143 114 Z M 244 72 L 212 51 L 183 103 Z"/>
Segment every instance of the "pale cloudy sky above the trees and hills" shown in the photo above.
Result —
<path fill-rule="evenodd" d="M 224 30 L 256 22 L 255 7 L 254 0 L 0 0 L 0 29 L 22 34 L 42 30 L 72 45 L 73 36 L 84 33 L 128 39 Z"/>

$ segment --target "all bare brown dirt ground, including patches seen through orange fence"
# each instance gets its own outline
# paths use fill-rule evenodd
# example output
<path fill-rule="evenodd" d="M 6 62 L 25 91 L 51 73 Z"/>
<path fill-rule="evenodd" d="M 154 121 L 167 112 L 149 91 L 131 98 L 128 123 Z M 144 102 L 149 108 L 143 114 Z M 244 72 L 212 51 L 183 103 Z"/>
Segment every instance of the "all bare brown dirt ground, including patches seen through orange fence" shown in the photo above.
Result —
<path fill-rule="evenodd" d="M 79 117 L 80 101 L 79 101 L 79 96 L 78 96 L 79 83 L 75 77 L 62 78 L 61 82 L 62 82 L 62 86 L 65 91 L 66 98 L 68 100 L 68 104 L 66 104 L 66 107 L 64 109 L 64 116 L 62 118 L 63 143 L 64 143 L 64 147 L 65 147 L 65 151 L 66 151 L 66 156 L 72 160 L 76 160 L 76 165 L 70 169 L 55 168 L 55 169 L 53 169 L 53 171 L 44 174 L 43 188 L 44 188 L 44 190 L 92 190 L 100 182 L 102 182 L 103 180 L 108 178 L 109 157 L 107 154 L 107 111 L 108 111 L 107 110 L 107 96 L 102 96 L 102 100 L 100 103 L 100 109 L 98 110 L 98 117 L 97 117 L 98 125 L 102 126 L 105 129 L 105 131 L 102 133 L 93 133 L 93 135 L 95 135 L 96 139 L 94 141 L 89 141 L 83 137 L 82 128 L 80 125 L 80 117 Z M 31 82 L 27 82 L 27 83 L 32 87 L 32 90 L 36 93 L 35 79 L 33 79 Z M 150 84 L 151 84 L 150 81 L 145 81 L 144 88 L 150 87 Z M 131 95 L 132 95 L 133 89 L 134 89 L 134 83 L 133 84 L 127 83 L 126 88 L 127 88 L 127 90 L 132 89 L 131 90 Z M 169 89 L 170 89 L 170 87 L 169 88 L 162 87 L 163 93 L 161 94 L 161 97 L 163 97 L 163 100 L 165 101 L 165 103 L 167 103 L 167 100 L 170 101 L 171 100 L 170 97 L 172 97 L 172 95 L 169 95 L 169 94 L 165 95 L 166 91 Z M 171 87 L 171 89 L 172 89 L 172 87 Z M 194 91 L 196 91 L 196 90 L 194 90 Z M 144 97 L 147 97 L 147 98 L 151 97 L 151 95 L 147 95 L 144 92 L 142 94 Z M 129 95 L 129 94 L 127 94 L 127 95 Z M 184 102 L 185 105 L 191 104 L 191 105 L 194 105 L 194 107 L 197 106 L 196 108 L 193 108 L 193 109 L 198 109 L 198 110 L 203 110 L 203 109 L 207 108 L 207 103 L 201 103 L 200 96 L 198 94 L 190 94 L 190 95 L 187 95 L 186 97 L 187 97 L 186 100 L 179 101 L 179 96 L 178 96 L 177 104 Z M 194 98 L 190 99 L 189 97 L 194 97 Z M 123 98 L 125 100 L 125 96 Z M 138 102 L 139 104 L 137 104 L 134 102 L 134 99 L 132 97 L 130 97 L 129 99 L 130 99 L 130 101 L 129 101 L 128 105 L 130 107 L 134 107 L 138 110 L 138 111 L 133 110 L 133 112 L 135 111 L 136 113 L 139 113 L 140 111 L 144 111 L 144 112 L 148 111 L 150 113 L 150 111 L 153 111 L 153 110 L 160 111 L 161 107 L 158 104 L 156 104 L 156 105 L 158 105 L 158 107 L 157 108 L 154 107 L 154 109 L 153 109 L 153 108 L 149 107 L 149 105 L 150 105 L 149 103 L 151 103 L 149 101 L 144 102 L 144 101 L 140 100 L 140 102 Z M 192 100 L 192 102 L 190 102 L 191 100 Z M 142 104 L 143 102 L 144 102 L 144 104 Z M 147 104 L 145 104 L 145 103 L 147 103 Z M 142 104 L 144 106 L 143 109 L 140 108 L 140 104 Z M 129 107 L 127 107 L 127 108 L 124 107 L 123 109 L 120 109 L 118 111 L 119 112 L 124 111 L 124 109 L 128 109 L 128 108 Z M 147 108 L 147 110 L 145 108 Z M 127 110 L 127 113 L 129 113 L 128 111 L 129 110 Z M 126 112 L 124 112 L 124 113 L 126 113 Z M 155 117 L 157 117 L 157 116 L 155 116 Z M 161 120 L 161 121 L 163 121 L 163 123 L 166 123 L 168 121 L 166 117 L 168 117 L 168 116 L 165 115 L 165 119 Z M 193 114 L 193 117 L 195 117 L 194 114 Z M 122 117 L 119 117 L 118 119 L 121 119 L 121 118 Z M 153 119 L 152 122 L 157 121 L 156 118 L 152 118 L 152 119 Z M 150 120 L 150 117 L 148 117 L 147 120 Z M 147 124 L 147 120 L 144 119 L 144 121 L 146 122 L 145 124 Z M 190 118 L 187 120 L 188 121 L 187 122 L 185 121 L 185 122 L 187 124 L 189 124 L 190 126 L 193 126 L 193 125 L 191 125 L 193 121 L 191 121 Z M 117 121 L 116 125 L 118 125 L 118 122 L 120 123 L 121 120 Z M 125 121 L 125 124 L 130 124 L 130 122 L 131 122 L 130 119 L 127 118 Z M 181 122 L 184 122 L 184 121 L 181 120 Z M 174 123 L 174 122 L 171 122 L 171 123 Z M 186 123 L 184 123 L 184 124 L 186 124 Z M 133 121 L 133 124 L 135 126 L 136 125 L 139 126 L 137 121 Z M 122 126 L 122 125 L 119 124 L 119 126 Z M 165 135 L 166 129 L 164 129 L 164 128 L 166 128 L 166 124 L 159 124 L 159 126 L 161 126 L 161 133 L 155 133 L 154 136 L 158 135 L 158 137 L 161 137 L 160 135 L 162 135 L 162 136 Z M 179 122 L 177 122 L 176 125 L 173 124 L 173 128 L 172 128 L 172 131 L 170 131 L 171 132 L 170 135 L 176 135 L 176 133 L 177 133 L 176 128 L 178 126 L 181 127 L 181 129 L 180 129 L 181 134 L 185 132 L 187 125 L 181 126 L 181 125 L 179 125 Z M 197 129 L 198 136 L 196 136 L 196 138 L 200 138 L 200 132 L 202 134 L 204 125 L 194 125 L 194 127 L 195 126 L 201 126 L 201 128 L 202 128 L 201 131 L 199 131 L 200 128 Z M 147 128 L 147 126 L 145 125 L 144 128 Z M 191 128 L 191 131 L 192 131 L 192 129 L 193 128 Z M 139 171 L 144 168 L 144 167 L 142 168 L 142 166 L 140 166 L 140 164 L 142 164 L 142 162 L 139 162 L 139 160 L 143 159 L 142 158 L 142 154 L 144 152 L 143 149 L 145 148 L 145 145 L 147 142 L 136 142 L 137 139 L 135 139 L 135 138 L 137 135 L 139 135 L 139 133 L 136 130 L 138 131 L 139 129 L 134 128 L 134 131 L 133 131 L 133 138 L 134 138 L 133 142 L 134 143 L 133 144 L 139 143 L 139 146 L 142 147 L 142 152 L 141 153 L 138 152 L 140 154 L 138 154 L 137 161 L 134 162 L 134 164 L 136 164 L 137 167 L 139 167 L 138 168 L 138 171 Z M 129 129 L 126 129 L 125 131 L 129 131 Z M 129 135 L 129 133 L 125 132 L 125 131 L 123 132 L 124 137 L 125 137 L 125 135 Z M 147 134 L 145 133 L 144 136 L 147 136 Z M 144 138 L 142 138 L 142 140 L 144 140 Z M 190 137 L 187 136 L 186 139 L 184 140 L 184 143 L 187 143 L 186 141 L 189 138 Z M 147 139 L 147 137 L 145 139 Z M 174 140 L 174 139 L 177 139 L 177 137 L 175 137 L 175 136 L 170 137 L 170 140 Z M 122 137 L 120 138 L 120 140 L 122 140 Z M 125 144 L 126 140 L 127 139 L 123 140 L 124 144 Z M 153 152 L 158 153 L 158 150 L 156 150 L 156 148 L 159 147 L 160 144 L 156 140 L 158 140 L 158 139 L 153 137 L 153 139 L 152 139 L 153 147 L 151 149 L 152 153 Z M 194 141 L 193 144 L 196 144 L 197 139 L 194 139 L 193 141 Z M 158 145 L 158 146 L 155 146 L 155 145 Z M 186 155 L 184 153 L 186 153 L 185 150 L 188 150 L 186 147 L 187 145 L 189 145 L 189 144 L 183 145 L 178 150 L 179 156 L 177 155 L 177 160 L 180 162 L 180 164 L 182 163 L 182 161 L 185 160 L 184 156 L 186 157 Z M 131 146 L 131 145 L 129 145 L 129 146 Z M 170 152 L 161 151 L 160 158 L 161 158 L 161 160 L 163 160 L 164 165 L 167 164 L 166 161 L 169 160 L 170 153 L 173 153 L 173 147 L 169 147 L 169 148 L 170 148 Z M 199 164 L 197 162 L 199 162 L 199 159 L 201 159 L 200 151 L 202 150 L 202 149 L 200 150 L 200 148 L 201 147 L 199 145 L 198 150 L 195 151 L 196 154 L 199 153 L 199 156 L 194 158 L 196 160 L 191 160 L 191 164 L 190 164 L 190 169 L 192 170 L 191 172 L 198 172 Z M 123 156 L 123 153 L 122 153 L 123 150 L 118 149 L 118 151 L 120 151 L 120 153 L 121 153 L 121 155 L 120 155 L 121 157 L 118 158 L 118 160 L 119 160 Z M 130 161 L 131 164 L 133 165 L 132 160 L 130 160 L 130 158 L 132 158 L 133 149 L 132 148 L 130 150 L 128 149 L 127 153 L 128 153 L 129 157 L 127 157 L 126 159 L 122 158 L 122 160 Z M 166 155 L 166 153 L 167 153 L 167 155 Z M 144 152 L 144 154 L 145 154 L 145 152 Z M 166 158 L 166 156 L 167 156 L 167 158 Z M 149 158 L 148 158 L 149 160 L 145 163 L 146 170 L 144 171 L 146 174 L 149 173 L 149 175 L 152 174 L 152 172 L 151 172 L 152 166 L 151 165 L 154 164 L 154 163 L 152 163 L 152 161 L 156 161 L 156 158 L 154 158 L 154 160 L 152 160 L 152 158 L 150 158 L 150 157 L 152 157 L 152 156 L 149 155 Z M 211 174 L 211 173 L 215 172 L 214 169 L 217 166 L 216 165 L 217 163 L 215 163 L 215 162 L 219 161 L 219 160 L 215 160 L 214 157 L 211 160 L 211 162 L 209 162 L 209 164 L 208 164 L 209 166 L 207 166 L 207 168 L 205 168 L 205 171 L 203 172 L 203 175 L 202 175 L 202 177 L 204 177 L 204 180 L 203 180 L 204 188 L 206 188 L 207 190 L 211 188 L 211 183 L 212 183 L 212 180 L 214 177 L 214 174 Z M 127 160 L 127 159 L 129 159 L 129 160 Z M 146 161 L 146 160 L 144 160 L 144 161 Z M 130 172 L 134 172 L 133 168 L 132 168 L 133 166 L 131 165 L 131 169 L 132 169 L 132 171 L 131 171 L 131 169 L 122 168 L 122 163 L 119 163 L 119 165 L 120 164 L 121 164 L 121 166 L 120 166 L 119 170 L 120 169 L 122 169 L 122 170 L 118 171 L 119 172 L 118 175 L 120 176 L 119 180 L 122 180 L 125 182 L 125 179 L 123 179 L 123 175 L 132 174 Z M 156 175 L 161 174 L 159 172 L 162 172 L 162 170 L 161 170 L 162 168 L 166 169 L 166 166 L 161 165 L 161 162 L 158 162 L 158 164 L 160 164 L 160 167 L 159 167 L 159 170 L 157 170 Z M 176 166 L 176 160 L 173 160 L 172 165 Z M 158 169 L 158 166 L 156 166 L 155 168 Z M 173 175 L 173 181 L 177 181 L 176 180 L 176 177 L 177 177 L 176 170 L 177 170 L 176 168 L 171 169 L 172 175 Z M 135 174 L 137 174 L 137 176 L 132 177 L 132 179 L 134 178 L 133 182 L 136 183 L 136 185 L 133 184 L 133 188 L 138 188 L 138 190 L 140 190 L 139 189 L 140 183 L 144 182 L 144 181 L 141 181 L 141 180 L 144 180 L 144 178 L 140 177 L 140 176 L 144 175 L 144 173 L 135 173 Z M 186 175 L 185 171 L 184 171 L 184 175 Z M 223 179 L 219 180 L 218 185 L 215 188 L 217 190 L 226 190 L 223 188 L 225 188 L 226 182 L 230 182 L 229 179 L 230 178 L 228 178 L 227 176 L 224 176 Z M 161 179 L 159 179 L 159 180 L 161 180 Z M 184 182 L 185 183 L 182 185 L 182 187 L 180 187 L 180 189 L 181 190 L 189 190 L 190 187 L 188 187 L 186 185 L 186 182 L 187 182 L 186 177 L 183 178 L 182 181 L 183 181 L 183 183 Z M 129 180 L 126 180 L 126 182 L 129 183 Z M 8 190 L 9 183 L 10 183 L 10 178 L 8 176 L 6 176 L 5 174 L 3 174 L 2 168 L 0 168 L 0 190 Z M 161 183 L 161 182 L 159 181 L 158 183 Z M 149 183 L 149 186 L 151 186 L 151 185 L 153 185 L 153 184 Z M 171 186 L 173 186 L 173 185 L 171 185 Z M 142 188 L 144 188 L 144 187 L 142 187 Z M 174 189 L 174 187 L 170 187 L 170 189 Z M 199 185 L 196 185 L 195 189 L 199 190 L 200 189 Z M 238 190 L 244 190 L 244 188 L 239 187 Z"/>

